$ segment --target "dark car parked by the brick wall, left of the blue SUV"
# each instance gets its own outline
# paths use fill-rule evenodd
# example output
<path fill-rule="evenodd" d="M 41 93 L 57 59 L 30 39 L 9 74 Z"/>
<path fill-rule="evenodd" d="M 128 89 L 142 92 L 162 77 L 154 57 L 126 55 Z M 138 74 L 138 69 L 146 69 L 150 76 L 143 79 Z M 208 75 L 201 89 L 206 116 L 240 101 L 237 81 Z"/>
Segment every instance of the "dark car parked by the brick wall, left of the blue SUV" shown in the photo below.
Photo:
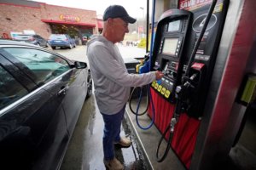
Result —
<path fill-rule="evenodd" d="M 47 42 L 47 40 L 39 35 L 18 34 L 14 37 L 14 40 L 19 42 L 29 42 L 44 48 L 49 47 L 49 43 Z"/>

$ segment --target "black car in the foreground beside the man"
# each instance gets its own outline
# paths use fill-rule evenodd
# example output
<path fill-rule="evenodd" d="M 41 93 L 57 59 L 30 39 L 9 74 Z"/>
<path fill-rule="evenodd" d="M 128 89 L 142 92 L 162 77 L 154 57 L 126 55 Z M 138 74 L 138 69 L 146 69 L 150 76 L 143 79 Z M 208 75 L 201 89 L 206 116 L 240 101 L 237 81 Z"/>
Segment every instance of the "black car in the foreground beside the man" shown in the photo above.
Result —
<path fill-rule="evenodd" d="M 59 169 L 91 87 L 86 63 L 0 40 L 0 169 Z"/>

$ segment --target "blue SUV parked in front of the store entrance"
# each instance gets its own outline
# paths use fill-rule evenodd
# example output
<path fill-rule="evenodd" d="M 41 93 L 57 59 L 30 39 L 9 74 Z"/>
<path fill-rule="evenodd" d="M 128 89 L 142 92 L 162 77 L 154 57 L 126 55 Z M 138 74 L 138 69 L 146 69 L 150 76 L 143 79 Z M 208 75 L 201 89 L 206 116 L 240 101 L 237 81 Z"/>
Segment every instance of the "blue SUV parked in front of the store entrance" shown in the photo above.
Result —
<path fill-rule="evenodd" d="M 49 45 L 51 48 L 55 49 L 56 47 L 60 48 L 75 48 L 76 43 L 73 38 L 67 34 L 51 34 L 49 36 Z"/>

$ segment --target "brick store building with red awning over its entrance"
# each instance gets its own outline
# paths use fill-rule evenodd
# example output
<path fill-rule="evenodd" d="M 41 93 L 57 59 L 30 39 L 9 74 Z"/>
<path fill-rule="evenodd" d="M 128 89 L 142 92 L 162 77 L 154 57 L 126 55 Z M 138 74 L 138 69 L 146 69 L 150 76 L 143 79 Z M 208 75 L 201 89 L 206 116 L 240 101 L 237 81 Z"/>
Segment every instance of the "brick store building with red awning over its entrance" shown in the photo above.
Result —
<path fill-rule="evenodd" d="M 102 31 L 96 11 L 67 8 L 25 0 L 0 0 L 0 37 L 12 39 L 17 34 L 68 34 L 82 40 Z"/>

